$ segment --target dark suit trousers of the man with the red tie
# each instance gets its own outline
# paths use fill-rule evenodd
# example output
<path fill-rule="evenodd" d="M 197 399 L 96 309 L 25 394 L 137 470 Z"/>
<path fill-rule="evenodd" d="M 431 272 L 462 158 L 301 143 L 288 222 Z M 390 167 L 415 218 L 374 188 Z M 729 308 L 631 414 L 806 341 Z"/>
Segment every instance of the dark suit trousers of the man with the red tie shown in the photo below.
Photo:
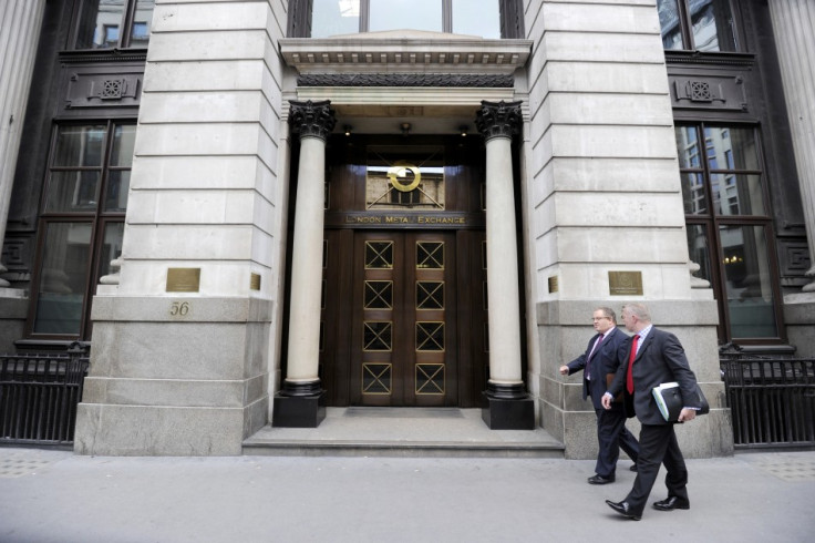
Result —
<path fill-rule="evenodd" d="M 673 424 L 642 424 L 637 479 L 625 500 L 635 514 L 642 514 L 648 495 L 657 482 L 661 463 L 668 470 L 666 474 L 668 495 L 688 500 L 688 469 L 684 465 L 682 451 L 679 450 Z"/>

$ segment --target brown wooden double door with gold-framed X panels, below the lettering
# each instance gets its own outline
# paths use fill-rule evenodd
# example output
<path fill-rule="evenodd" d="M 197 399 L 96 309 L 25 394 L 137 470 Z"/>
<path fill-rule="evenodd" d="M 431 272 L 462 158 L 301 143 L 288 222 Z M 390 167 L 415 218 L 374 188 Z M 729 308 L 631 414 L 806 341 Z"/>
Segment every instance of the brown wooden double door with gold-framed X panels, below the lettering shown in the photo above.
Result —
<path fill-rule="evenodd" d="M 321 359 L 330 403 L 477 406 L 487 369 L 483 233 L 327 237 Z"/>

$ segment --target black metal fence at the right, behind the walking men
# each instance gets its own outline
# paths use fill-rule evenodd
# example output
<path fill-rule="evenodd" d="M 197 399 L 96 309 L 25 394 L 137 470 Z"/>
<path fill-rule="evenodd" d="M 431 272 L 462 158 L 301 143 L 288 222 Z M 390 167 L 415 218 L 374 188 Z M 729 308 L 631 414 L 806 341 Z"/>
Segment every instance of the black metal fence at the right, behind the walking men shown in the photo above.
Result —
<path fill-rule="evenodd" d="M 815 359 L 724 356 L 736 448 L 815 445 Z"/>

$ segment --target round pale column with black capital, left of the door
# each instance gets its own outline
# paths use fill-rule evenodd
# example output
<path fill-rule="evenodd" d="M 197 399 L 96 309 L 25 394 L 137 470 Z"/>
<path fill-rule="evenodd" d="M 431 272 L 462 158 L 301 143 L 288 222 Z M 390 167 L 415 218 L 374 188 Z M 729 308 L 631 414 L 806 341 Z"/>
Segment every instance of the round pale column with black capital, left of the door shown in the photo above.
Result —
<path fill-rule="evenodd" d="M 326 417 L 318 377 L 326 140 L 337 120 L 329 101 L 291 101 L 290 123 L 300 135 L 295 237 L 290 245 L 291 300 L 286 380 L 275 398 L 272 426 L 316 428 Z"/>

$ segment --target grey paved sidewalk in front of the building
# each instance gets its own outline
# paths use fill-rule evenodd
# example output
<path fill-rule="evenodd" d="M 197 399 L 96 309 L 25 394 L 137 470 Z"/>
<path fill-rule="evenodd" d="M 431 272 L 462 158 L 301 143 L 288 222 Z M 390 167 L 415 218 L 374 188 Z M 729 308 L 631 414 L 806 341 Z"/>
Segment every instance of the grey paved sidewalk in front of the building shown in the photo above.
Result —
<path fill-rule="evenodd" d="M 0 542 L 804 542 L 815 452 L 689 460 L 690 511 L 616 515 L 594 461 L 103 458 L 0 448 Z M 664 498 L 660 480 L 651 501 Z"/>

